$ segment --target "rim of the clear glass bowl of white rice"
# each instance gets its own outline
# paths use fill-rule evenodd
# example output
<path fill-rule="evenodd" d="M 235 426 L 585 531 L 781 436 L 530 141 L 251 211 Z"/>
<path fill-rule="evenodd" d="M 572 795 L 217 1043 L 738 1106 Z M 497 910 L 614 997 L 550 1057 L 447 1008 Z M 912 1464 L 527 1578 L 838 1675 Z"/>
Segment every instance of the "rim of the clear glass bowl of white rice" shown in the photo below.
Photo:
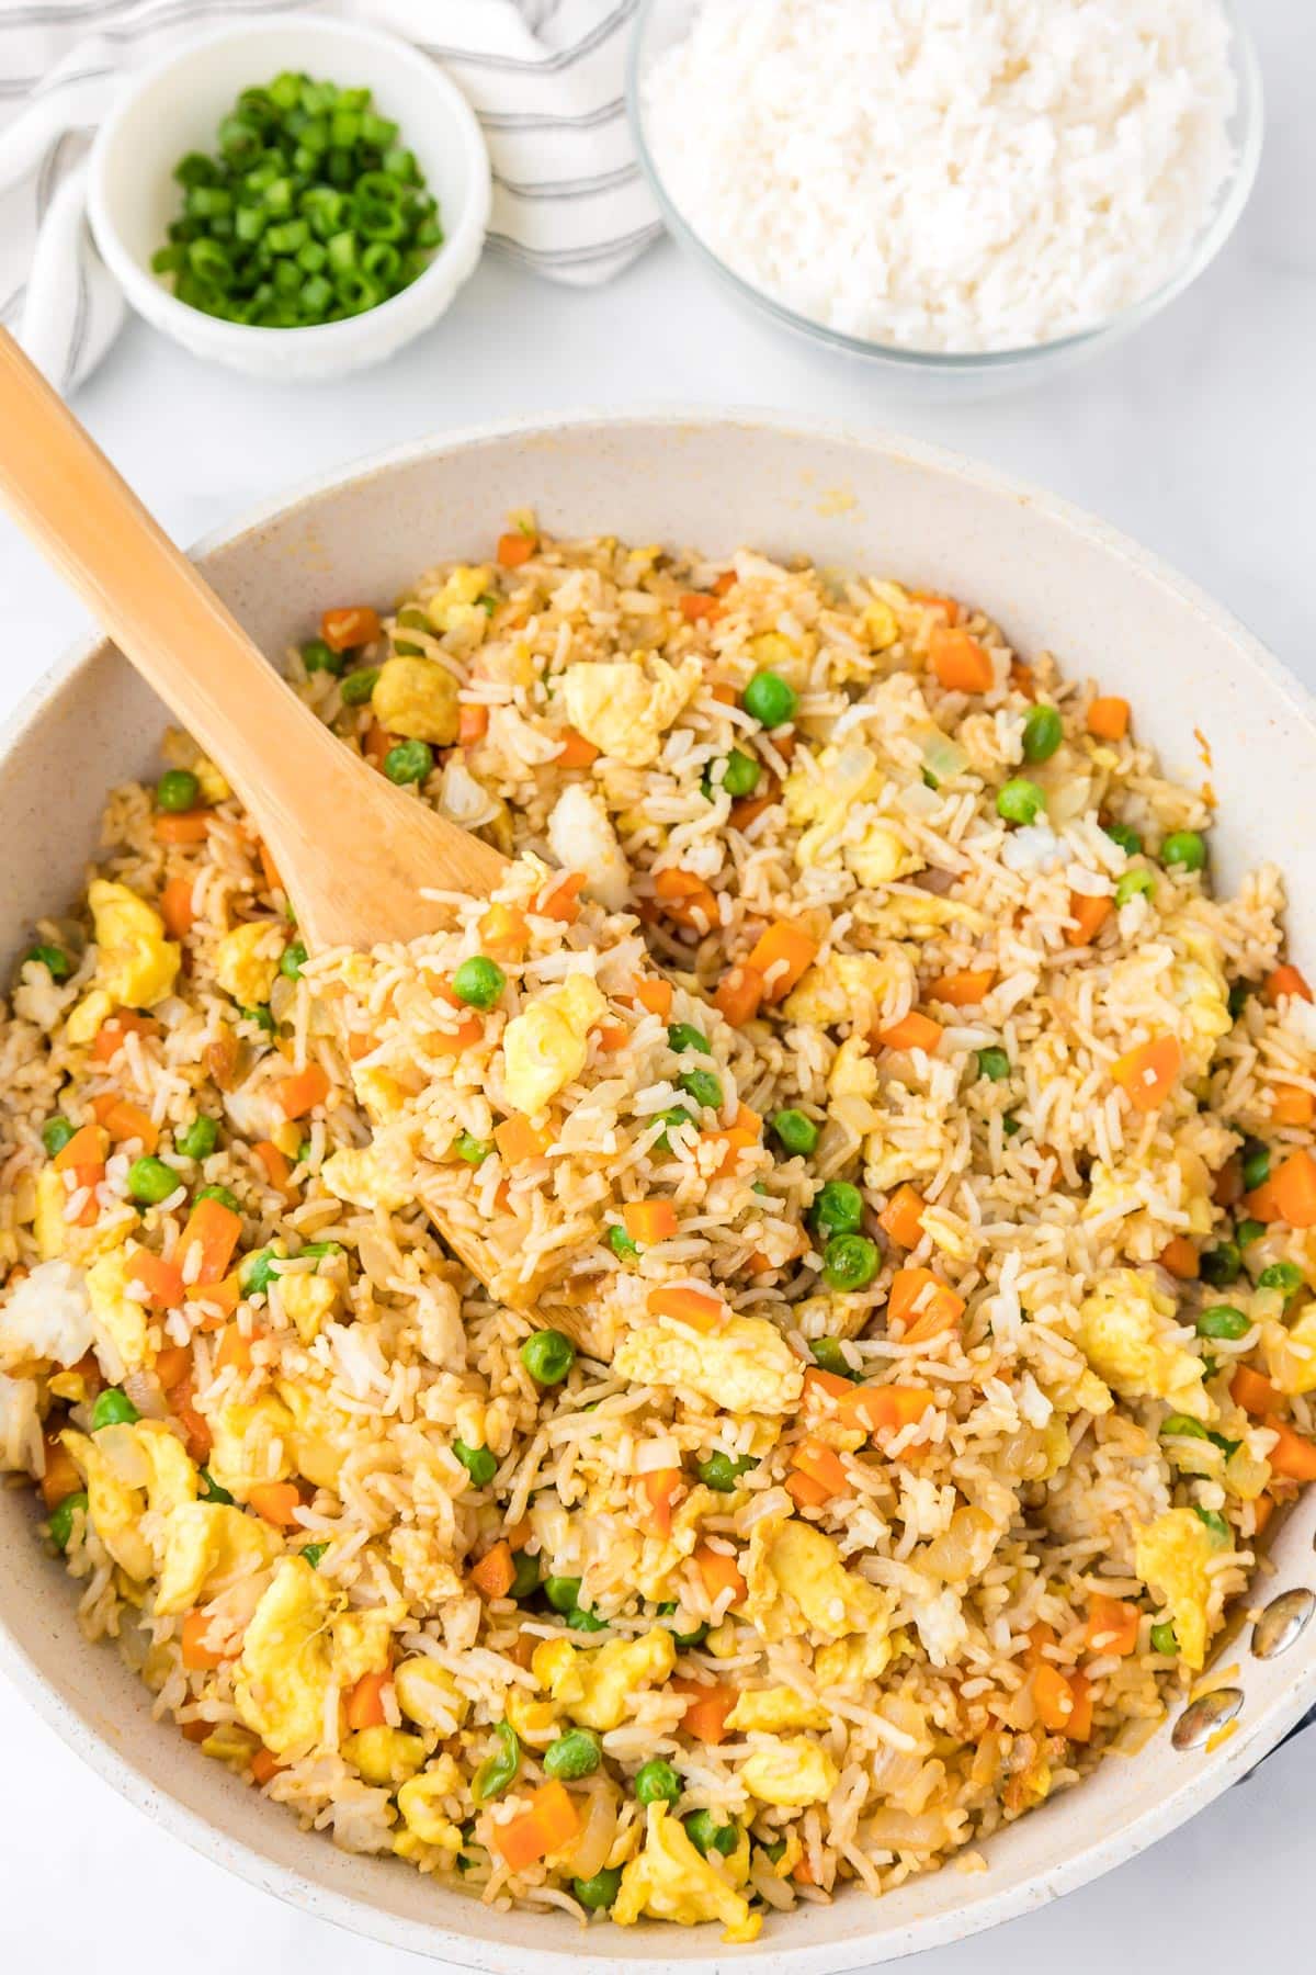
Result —
<path fill-rule="evenodd" d="M 635 10 L 631 40 L 625 51 L 625 117 L 631 130 L 631 142 L 635 144 L 635 156 L 639 158 L 639 168 L 667 231 L 679 247 L 706 267 L 724 288 L 738 296 L 740 302 L 762 310 L 762 314 L 771 316 L 773 322 L 781 324 L 781 328 L 791 330 L 795 336 L 803 336 L 807 342 L 825 344 L 827 348 L 841 350 L 852 357 L 864 357 L 872 363 L 890 363 L 894 369 L 904 369 L 915 375 L 1008 375 L 1010 371 L 1024 369 L 1030 363 L 1063 359 L 1065 356 L 1077 356 L 1083 350 L 1091 350 L 1099 342 L 1115 342 L 1117 338 L 1129 336 L 1144 322 L 1150 322 L 1152 316 L 1160 314 L 1162 308 L 1168 308 L 1176 296 L 1190 288 L 1200 275 L 1206 275 L 1211 261 L 1215 261 L 1227 245 L 1233 229 L 1243 217 L 1247 201 L 1253 196 L 1253 186 L 1261 168 L 1267 122 L 1261 59 L 1243 14 L 1241 0 L 1215 0 L 1229 28 L 1231 55 L 1237 77 L 1237 103 L 1231 115 L 1231 122 L 1237 122 L 1237 156 L 1223 190 L 1215 198 L 1215 205 L 1207 215 L 1206 225 L 1196 235 L 1192 249 L 1174 273 L 1166 275 L 1166 278 L 1152 288 L 1150 294 L 1144 294 L 1138 302 L 1129 302 L 1117 314 L 1105 316 L 1101 322 L 1093 322 L 1085 330 L 1071 330 L 1065 336 L 1054 336 L 1042 344 L 1014 344 L 1008 350 L 917 350 L 910 344 L 884 344 L 866 336 L 850 336 L 844 330 L 831 328 L 827 322 L 819 322 L 815 316 L 805 316 L 797 308 L 789 308 L 785 302 L 777 300 L 775 294 L 769 294 L 768 288 L 758 288 L 752 280 L 746 280 L 744 275 L 738 275 L 736 269 L 732 269 L 730 263 L 726 263 L 691 225 L 669 194 L 645 136 L 645 111 L 639 75 L 643 34 L 661 4 L 663 0 L 639 0 Z"/>

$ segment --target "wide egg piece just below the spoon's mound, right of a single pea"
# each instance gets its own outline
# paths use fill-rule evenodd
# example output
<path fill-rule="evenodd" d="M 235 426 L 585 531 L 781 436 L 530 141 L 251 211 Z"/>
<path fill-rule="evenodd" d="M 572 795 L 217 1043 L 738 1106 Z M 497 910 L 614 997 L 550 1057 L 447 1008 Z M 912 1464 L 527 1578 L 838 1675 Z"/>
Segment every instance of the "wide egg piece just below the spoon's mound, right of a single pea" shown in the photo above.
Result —
<path fill-rule="evenodd" d="M 716 1331 L 645 1323 L 618 1345 L 612 1369 L 631 1384 L 685 1384 L 724 1412 L 793 1412 L 805 1379 L 768 1317 L 728 1317 Z"/>

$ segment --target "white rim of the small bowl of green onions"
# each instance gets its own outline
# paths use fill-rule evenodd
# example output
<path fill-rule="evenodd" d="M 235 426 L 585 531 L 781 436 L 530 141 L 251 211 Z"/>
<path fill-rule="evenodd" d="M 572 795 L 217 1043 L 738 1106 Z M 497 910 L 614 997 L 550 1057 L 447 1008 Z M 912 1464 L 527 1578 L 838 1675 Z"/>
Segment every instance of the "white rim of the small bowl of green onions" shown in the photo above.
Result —
<path fill-rule="evenodd" d="M 227 322 L 221 316 L 207 316 L 203 310 L 191 308 L 189 302 L 180 302 L 170 288 L 150 271 L 142 269 L 128 253 L 114 219 L 112 201 L 107 196 L 107 158 L 124 124 L 136 115 L 142 95 L 170 71 L 191 63 L 205 49 L 227 47 L 229 43 L 251 43 L 255 47 L 262 40 L 272 40 L 288 30 L 304 36 L 320 36 L 322 41 L 373 47 L 385 59 L 395 61 L 399 69 L 406 69 L 422 79 L 434 91 L 436 99 L 442 99 L 444 115 L 462 138 L 472 166 L 472 196 L 466 199 L 454 229 L 444 231 L 444 239 L 424 273 L 408 282 L 406 288 L 399 288 L 397 294 L 363 310 L 359 316 L 345 316 L 341 322 L 308 322 L 288 328 L 258 322 Z M 310 59 L 314 61 L 314 53 Z M 493 168 L 479 118 L 442 63 L 383 28 L 365 28 L 353 20 L 320 14 L 266 14 L 253 22 L 211 28 L 191 36 L 180 47 L 170 49 L 146 67 L 132 71 L 109 117 L 97 130 L 87 160 L 87 217 L 97 249 L 124 296 L 134 302 L 140 314 L 148 316 L 150 322 L 168 330 L 180 342 L 195 336 L 197 324 L 201 324 L 207 336 L 231 334 L 235 340 L 241 340 L 245 350 L 255 352 L 264 348 L 270 354 L 276 350 L 288 352 L 294 344 L 298 350 L 329 352 L 337 344 L 359 338 L 361 326 L 367 322 L 387 328 L 399 316 L 412 316 L 416 302 L 426 300 L 434 288 L 446 294 L 448 282 L 454 276 L 462 280 L 475 265 L 489 227 L 491 199 Z"/>

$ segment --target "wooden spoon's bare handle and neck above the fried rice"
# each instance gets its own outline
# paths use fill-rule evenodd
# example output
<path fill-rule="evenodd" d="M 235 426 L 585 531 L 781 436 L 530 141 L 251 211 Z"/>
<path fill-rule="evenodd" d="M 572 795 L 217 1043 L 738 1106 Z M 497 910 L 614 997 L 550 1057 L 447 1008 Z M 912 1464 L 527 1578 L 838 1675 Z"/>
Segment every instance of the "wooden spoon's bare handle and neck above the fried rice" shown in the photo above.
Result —
<path fill-rule="evenodd" d="M 284 685 L 6 330 L 0 498 L 233 782 L 312 948 L 412 940 L 438 924 L 422 887 L 497 887 L 499 851 L 367 768 Z"/>

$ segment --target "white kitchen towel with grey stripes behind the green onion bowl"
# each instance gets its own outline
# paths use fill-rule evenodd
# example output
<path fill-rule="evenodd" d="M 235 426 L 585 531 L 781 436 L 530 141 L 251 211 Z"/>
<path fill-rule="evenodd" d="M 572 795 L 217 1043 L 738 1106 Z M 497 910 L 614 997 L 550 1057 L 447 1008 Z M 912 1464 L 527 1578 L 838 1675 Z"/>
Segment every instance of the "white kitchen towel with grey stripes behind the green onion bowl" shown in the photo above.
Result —
<path fill-rule="evenodd" d="M 444 65 L 493 162 L 489 241 L 552 280 L 608 280 L 661 233 L 623 105 L 639 0 L 310 0 Z M 134 69 L 296 0 L 0 0 L 0 322 L 71 391 L 124 316 L 85 211 L 87 152 Z"/>

